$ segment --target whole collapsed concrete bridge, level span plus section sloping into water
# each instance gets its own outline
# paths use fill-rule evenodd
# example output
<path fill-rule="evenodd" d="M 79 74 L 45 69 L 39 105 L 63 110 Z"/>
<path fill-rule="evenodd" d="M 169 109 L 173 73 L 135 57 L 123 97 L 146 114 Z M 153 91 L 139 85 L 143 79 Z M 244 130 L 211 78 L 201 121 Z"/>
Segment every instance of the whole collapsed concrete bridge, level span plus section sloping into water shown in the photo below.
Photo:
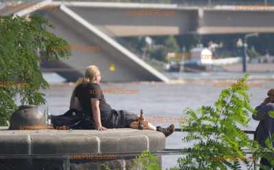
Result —
<path fill-rule="evenodd" d="M 98 3 L 42 1 L 37 8 L 17 12 L 23 16 L 46 5 L 44 10 L 55 29 L 71 47 L 97 47 L 97 50 L 73 49 L 73 56 L 62 62 L 45 62 L 46 71 L 57 71 L 69 81 L 82 76 L 86 66 L 96 64 L 103 82 L 164 81 L 169 79 L 120 45 L 114 37 L 177 34 L 235 34 L 274 32 L 274 6 L 182 6 L 177 4 Z M 112 69 L 110 68 L 112 66 Z M 56 68 L 57 67 L 57 68 Z M 115 71 L 113 70 L 115 67 Z"/>

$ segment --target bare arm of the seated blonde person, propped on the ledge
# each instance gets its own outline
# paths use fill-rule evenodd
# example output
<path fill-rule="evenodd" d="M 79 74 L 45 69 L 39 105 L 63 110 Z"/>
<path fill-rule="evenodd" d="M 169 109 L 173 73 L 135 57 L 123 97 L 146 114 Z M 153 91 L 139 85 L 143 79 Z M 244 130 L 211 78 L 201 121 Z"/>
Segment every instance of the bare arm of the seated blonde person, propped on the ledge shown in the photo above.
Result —
<path fill-rule="evenodd" d="M 103 127 L 101 124 L 101 113 L 99 109 L 99 99 L 91 98 L 91 109 L 92 109 L 92 116 L 95 121 L 96 129 L 97 130 L 108 130 L 107 128 Z"/>

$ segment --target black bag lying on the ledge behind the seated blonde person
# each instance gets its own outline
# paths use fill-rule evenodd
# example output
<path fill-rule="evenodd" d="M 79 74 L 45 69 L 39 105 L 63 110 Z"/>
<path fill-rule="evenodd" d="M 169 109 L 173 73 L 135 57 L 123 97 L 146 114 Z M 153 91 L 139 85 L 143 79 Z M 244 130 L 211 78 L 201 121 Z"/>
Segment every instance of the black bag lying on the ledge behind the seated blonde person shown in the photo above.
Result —
<path fill-rule="evenodd" d="M 84 111 L 70 109 L 64 114 L 51 118 L 53 127 L 66 126 L 75 130 L 91 130 L 95 129 L 95 122 L 85 116 Z"/>

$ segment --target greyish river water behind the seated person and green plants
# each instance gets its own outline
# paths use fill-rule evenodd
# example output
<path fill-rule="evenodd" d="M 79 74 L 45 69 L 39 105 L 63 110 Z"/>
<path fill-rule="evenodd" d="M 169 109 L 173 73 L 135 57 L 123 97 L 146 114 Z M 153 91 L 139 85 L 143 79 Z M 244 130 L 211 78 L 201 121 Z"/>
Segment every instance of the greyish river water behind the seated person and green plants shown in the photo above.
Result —
<path fill-rule="evenodd" d="M 161 82 L 132 82 L 132 83 L 104 83 L 101 84 L 105 90 L 105 99 L 117 110 L 129 110 L 139 114 L 140 110 L 144 110 L 145 117 L 157 117 L 153 121 L 153 125 L 167 126 L 174 121 L 175 126 L 179 124 L 175 119 L 183 116 L 183 110 L 187 107 L 197 109 L 199 106 L 212 106 L 214 101 L 219 98 L 222 88 L 227 84 L 220 85 L 222 82 L 214 80 L 206 81 L 188 81 L 181 84 L 164 84 Z M 273 88 L 273 80 L 258 80 L 249 82 L 257 85 L 251 86 L 249 93 L 251 96 L 251 106 L 255 107 L 260 104 L 266 97 L 269 88 Z M 222 85 L 222 84 L 221 84 Z M 51 85 L 47 90 L 41 90 L 45 93 L 47 105 L 40 106 L 40 111 L 49 108 L 51 114 L 63 114 L 69 109 L 69 100 L 71 97 L 74 84 Z M 112 89 L 112 90 L 110 90 Z M 118 91 L 117 89 L 120 89 Z M 127 94 L 125 94 L 127 93 Z M 169 117 L 165 121 L 163 117 Z M 173 117 L 175 119 L 170 119 Z M 258 121 L 251 120 L 247 130 L 255 130 Z M 185 134 L 175 132 L 166 138 L 166 148 L 187 147 L 182 143 L 182 137 Z M 174 167 L 177 165 L 179 156 L 163 156 L 163 169 Z"/>

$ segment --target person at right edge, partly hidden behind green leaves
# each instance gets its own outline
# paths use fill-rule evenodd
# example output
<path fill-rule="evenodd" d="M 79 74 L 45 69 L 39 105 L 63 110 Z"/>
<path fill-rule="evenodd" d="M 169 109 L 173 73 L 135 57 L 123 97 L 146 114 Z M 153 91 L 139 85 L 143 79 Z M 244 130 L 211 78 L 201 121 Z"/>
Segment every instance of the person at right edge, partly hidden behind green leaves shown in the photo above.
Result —
<path fill-rule="evenodd" d="M 262 147 L 266 147 L 266 138 L 271 138 L 274 132 L 274 119 L 269 116 L 269 112 L 274 110 L 274 88 L 271 88 L 267 95 L 262 104 L 255 108 L 258 111 L 257 114 L 252 115 L 253 119 L 260 121 L 254 136 Z M 273 169 L 266 158 L 261 158 L 260 163 Z"/>

